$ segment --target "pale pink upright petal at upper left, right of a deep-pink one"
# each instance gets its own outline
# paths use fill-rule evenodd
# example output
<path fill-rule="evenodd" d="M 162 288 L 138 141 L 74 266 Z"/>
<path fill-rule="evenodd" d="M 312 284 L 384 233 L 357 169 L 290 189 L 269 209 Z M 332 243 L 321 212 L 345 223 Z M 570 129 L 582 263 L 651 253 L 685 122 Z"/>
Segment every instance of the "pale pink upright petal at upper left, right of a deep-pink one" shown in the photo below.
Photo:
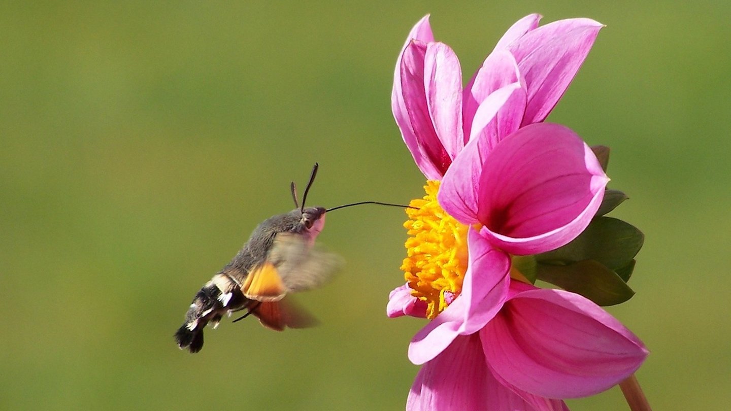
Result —
<path fill-rule="evenodd" d="M 462 137 L 462 69 L 454 51 L 431 42 L 424 57 L 424 88 L 433 129 L 450 158 L 464 146 Z"/>

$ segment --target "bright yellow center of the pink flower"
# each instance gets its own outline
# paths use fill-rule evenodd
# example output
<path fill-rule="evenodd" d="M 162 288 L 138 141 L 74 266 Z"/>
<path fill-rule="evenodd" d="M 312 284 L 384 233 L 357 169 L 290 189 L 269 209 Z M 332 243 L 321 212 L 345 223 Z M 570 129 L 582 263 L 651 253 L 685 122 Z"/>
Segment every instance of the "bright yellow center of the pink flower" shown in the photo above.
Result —
<path fill-rule="evenodd" d="M 427 181 L 426 195 L 406 208 L 407 257 L 401 265 L 412 295 L 427 303 L 426 316 L 436 317 L 459 295 L 467 270 L 467 229 L 436 201 L 439 181 Z"/>

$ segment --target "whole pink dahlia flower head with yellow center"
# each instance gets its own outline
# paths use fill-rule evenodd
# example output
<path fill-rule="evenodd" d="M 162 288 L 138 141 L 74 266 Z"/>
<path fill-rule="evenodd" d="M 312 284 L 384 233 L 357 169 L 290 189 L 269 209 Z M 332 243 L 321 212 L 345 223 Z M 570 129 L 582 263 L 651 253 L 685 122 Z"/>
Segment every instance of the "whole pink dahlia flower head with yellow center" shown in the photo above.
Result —
<path fill-rule="evenodd" d="M 409 346 L 424 364 L 410 410 L 564 410 L 558 399 L 604 391 L 648 354 L 596 304 L 527 284 L 512 264 L 572 241 L 609 181 L 574 132 L 539 123 L 601 25 L 538 18 L 515 23 L 465 91 L 426 18 L 399 59 L 394 116 L 430 180 L 407 209 L 406 285 L 387 307 L 431 319 Z"/>

